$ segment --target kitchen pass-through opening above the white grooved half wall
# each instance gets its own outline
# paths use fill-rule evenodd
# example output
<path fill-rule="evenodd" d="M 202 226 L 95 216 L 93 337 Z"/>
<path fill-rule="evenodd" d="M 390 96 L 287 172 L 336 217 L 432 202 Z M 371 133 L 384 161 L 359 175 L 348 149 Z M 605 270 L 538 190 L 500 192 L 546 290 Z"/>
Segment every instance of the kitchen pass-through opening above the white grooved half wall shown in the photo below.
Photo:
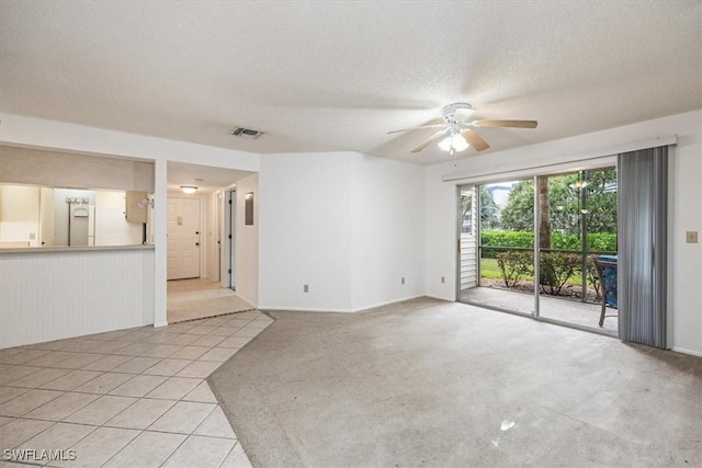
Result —
<path fill-rule="evenodd" d="M 150 243 L 146 192 L 0 184 L 0 249 Z"/>

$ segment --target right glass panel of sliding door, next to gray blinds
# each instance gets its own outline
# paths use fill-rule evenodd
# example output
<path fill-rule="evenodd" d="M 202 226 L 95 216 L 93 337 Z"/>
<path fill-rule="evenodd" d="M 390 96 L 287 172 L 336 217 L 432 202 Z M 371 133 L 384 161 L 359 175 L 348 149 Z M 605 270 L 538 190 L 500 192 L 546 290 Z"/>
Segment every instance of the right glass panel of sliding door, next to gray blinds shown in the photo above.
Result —
<path fill-rule="evenodd" d="M 592 260 L 616 254 L 616 172 L 578 171 L 540 176 L 536 183 L 539 315 L 599 328 L 601 294 Z M 616 320 L 604 329 L 616 331 Z"/>

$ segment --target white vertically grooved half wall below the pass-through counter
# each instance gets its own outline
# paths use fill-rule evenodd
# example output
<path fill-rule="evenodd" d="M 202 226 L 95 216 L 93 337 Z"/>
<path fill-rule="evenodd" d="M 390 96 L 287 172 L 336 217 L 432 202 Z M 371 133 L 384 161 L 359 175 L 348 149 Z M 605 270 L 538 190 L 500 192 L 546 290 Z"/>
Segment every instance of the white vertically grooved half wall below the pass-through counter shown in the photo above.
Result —
<path fill-rule="evenodd" d="M 154 250 L 0 254 L 0 349 L 154 323 Z"/>

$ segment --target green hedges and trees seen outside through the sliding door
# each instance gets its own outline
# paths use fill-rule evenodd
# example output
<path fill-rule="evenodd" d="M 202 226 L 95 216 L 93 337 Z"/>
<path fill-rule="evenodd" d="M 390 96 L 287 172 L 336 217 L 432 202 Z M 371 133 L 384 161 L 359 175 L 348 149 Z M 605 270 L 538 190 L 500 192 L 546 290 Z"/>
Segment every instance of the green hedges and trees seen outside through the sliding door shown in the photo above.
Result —
<path fill-rule="evenodd" d="M 586 301 L 598 303 L 593 258 L 616 254 L 615 171 L 539 179 L 539 203 L 547 207 L 537 226 L 539 281 L 534 279 L 533 179 L 512 183 L 502 206 L 490 189 L 479 190 L 480 285 L 531 294 L 536 284 L 541 294 L 578 299 L 585 295 Z"/>

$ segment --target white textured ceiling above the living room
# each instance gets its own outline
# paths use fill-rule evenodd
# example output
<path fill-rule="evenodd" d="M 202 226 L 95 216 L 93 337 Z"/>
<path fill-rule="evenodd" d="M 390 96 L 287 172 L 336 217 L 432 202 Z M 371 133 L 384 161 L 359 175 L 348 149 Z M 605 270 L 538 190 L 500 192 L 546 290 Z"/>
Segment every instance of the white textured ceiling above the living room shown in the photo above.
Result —
<path fill-rule="evenodd" d="M 0 1 L 1 111 L 253 152 L 491 151 L 702 107 L 700 1 Z M 235 125 L 265 132 L 245 140 Z M 472 157 L 468 149 L 460 157 Z"/>

